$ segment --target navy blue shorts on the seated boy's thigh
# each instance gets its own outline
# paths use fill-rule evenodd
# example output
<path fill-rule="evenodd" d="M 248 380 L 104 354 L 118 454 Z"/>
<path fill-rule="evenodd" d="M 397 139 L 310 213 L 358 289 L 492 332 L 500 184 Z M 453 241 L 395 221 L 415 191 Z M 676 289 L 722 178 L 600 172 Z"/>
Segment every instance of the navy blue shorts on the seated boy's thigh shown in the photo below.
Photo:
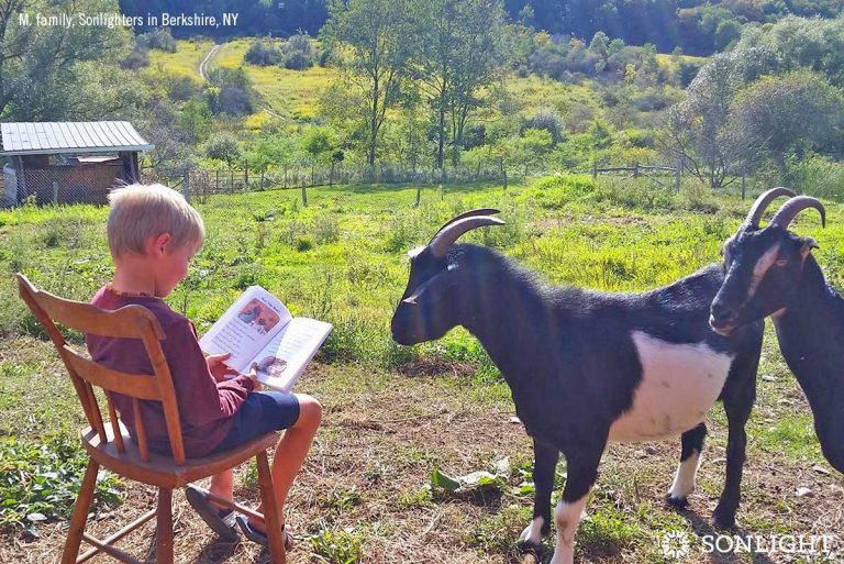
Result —
<path fill-rule="evenodd" d="M 299 400 L 281 391 L 253 391 L 232 418 L 232 428 L 211 452 L 240 446 L 262 434 L 293 427 L 299 420 Z"/>

